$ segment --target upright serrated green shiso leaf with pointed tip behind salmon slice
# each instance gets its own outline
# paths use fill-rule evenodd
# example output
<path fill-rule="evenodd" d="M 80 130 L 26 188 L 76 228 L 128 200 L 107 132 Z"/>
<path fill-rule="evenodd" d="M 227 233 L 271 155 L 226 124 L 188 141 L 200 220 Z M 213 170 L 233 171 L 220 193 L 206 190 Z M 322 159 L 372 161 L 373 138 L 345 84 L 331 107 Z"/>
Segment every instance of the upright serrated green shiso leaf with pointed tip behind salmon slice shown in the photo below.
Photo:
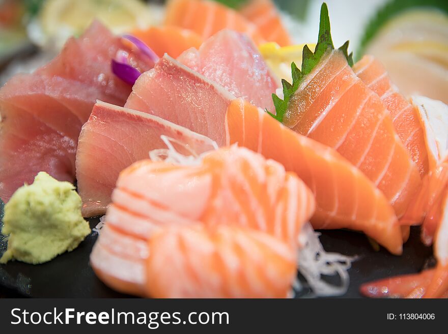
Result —
<path fill-rule="evenodd" d="M 345 42 L 339 50 L 344 53 L 348 64 L 353 66 L 353 53 L 348 54 L 348 44 L 349 41 Z M 322 56 L 328 50 L 334 50 L 334 45 L 333 40 L 331 39 L 328 7 L 327 4 L 323 3 L 320 9 L 319 37 L 316 44 L 316 49 L 313 52 L 307 45 L 303 47 L 301 70 L 299 70 L 294 63 L 291 64 L 292 84 L 287 82 L 285 79 L 282 80 L 283 100 L 275 94 L 272 94 L 272 100 L 274 101 L 276 113 L 274 115 L 267 111 L 272 117 L 277 119 L 279 122 L 283 122 L 291 95 L 293 95 L 299 87 L 302 78 L 315 68 L 315 66 L 320 62 Z"/>

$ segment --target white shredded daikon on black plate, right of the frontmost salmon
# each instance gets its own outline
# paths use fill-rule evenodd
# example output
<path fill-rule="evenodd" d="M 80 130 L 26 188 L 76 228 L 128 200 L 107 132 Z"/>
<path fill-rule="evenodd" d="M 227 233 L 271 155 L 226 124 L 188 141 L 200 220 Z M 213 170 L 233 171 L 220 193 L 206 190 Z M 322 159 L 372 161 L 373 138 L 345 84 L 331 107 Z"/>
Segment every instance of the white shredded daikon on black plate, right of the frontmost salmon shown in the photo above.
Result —
<path fill-rule="evenodd" d="M 356 257 L 339 253 L 325 252 L 319 240 L 320 233 L 315 232 L 310 223 L 303 226 L 299 241 L 303 247 L 299 250 L 298 269 L 317 296 L 338 296 L 347 292 L 350 278 L 347 270 Z M 322 275 L 339 275 L 341 284 L 331 285 L 322 279 Z M 294 290 L 300 291 L 299 281 Z"/>

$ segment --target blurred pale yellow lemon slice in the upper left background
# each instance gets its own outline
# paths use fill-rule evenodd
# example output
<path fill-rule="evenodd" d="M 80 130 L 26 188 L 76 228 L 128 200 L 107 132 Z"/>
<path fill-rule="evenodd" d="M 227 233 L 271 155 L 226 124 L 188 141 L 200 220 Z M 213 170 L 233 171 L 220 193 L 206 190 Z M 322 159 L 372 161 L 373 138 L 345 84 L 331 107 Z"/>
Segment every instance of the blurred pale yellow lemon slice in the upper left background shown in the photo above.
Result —
<path fill-rule="evenodd" d="M 40 46 L 60 48 L 67 38 L 79 36 L 97 19 L 113 33 L 144 29 L 156 19 L 139 0 L 47 0 L 29 27 L 31 39 Z"/>

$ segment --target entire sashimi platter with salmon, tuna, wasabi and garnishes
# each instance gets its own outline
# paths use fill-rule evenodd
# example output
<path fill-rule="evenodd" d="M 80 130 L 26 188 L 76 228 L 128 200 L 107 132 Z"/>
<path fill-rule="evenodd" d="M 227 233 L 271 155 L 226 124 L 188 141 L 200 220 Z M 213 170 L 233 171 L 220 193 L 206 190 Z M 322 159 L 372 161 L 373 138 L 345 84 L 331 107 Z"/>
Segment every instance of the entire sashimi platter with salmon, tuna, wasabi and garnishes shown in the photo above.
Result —
<path fill-rule="evenodd" d="M 44 1 L 33 60 L 0 72 L 0 285 L 448 297 L 446 2 L 383 4 L 354 49 L 336 1 L 298 2 L 307 23 L 271 0 L 105 1 L 135 24 L 85 26 L 63 3 L 100 6 Z"/>

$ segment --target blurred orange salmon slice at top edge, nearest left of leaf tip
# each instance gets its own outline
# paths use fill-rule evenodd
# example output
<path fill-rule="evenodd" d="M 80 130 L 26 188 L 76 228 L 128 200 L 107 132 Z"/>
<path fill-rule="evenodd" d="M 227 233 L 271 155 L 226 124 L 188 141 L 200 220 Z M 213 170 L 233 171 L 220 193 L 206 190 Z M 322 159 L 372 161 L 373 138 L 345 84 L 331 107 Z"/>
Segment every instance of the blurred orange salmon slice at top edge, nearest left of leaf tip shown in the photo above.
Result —
<path fill-rule="evenodd" d="M 240 13 L 257 26 L 266 41 L 276 42 L 279 46 L 292 44 L 282 18 L 271 0 L 250 0 L 240 9 Z"/>

